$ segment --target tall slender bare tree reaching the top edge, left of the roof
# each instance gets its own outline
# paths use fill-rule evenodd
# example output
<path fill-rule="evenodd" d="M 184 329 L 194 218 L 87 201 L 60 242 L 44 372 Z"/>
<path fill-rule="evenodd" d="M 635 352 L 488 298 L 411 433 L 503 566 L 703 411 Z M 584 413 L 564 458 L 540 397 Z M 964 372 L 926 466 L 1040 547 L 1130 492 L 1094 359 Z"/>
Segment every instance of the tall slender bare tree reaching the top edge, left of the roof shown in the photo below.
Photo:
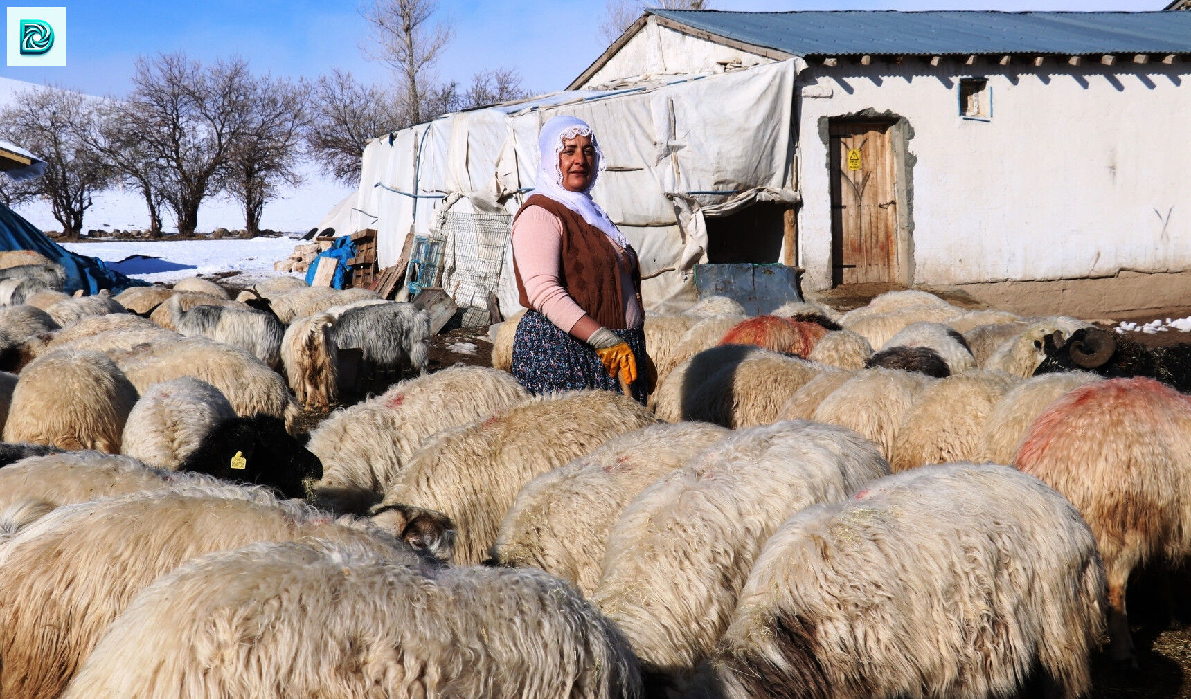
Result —
<path fill-rule="evenodd" d="M 451 30 L 430 24 L 438 8 L 437 0 L 373 0 L 363 10 L 372 26 L 375 48 L 367 51 L 387 63 L 397 74 L 400 126 L 428 121 L 439 113 L 430 98 L 434 94 L 434 67 L 451 39 Z"/>

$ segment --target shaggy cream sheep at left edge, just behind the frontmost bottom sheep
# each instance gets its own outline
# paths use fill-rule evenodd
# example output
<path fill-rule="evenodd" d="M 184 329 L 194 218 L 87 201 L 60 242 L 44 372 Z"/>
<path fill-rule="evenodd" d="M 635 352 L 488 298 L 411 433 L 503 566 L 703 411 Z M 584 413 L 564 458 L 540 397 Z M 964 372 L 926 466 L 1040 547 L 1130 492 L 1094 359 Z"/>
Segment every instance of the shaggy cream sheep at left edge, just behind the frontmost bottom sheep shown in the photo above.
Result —
<path fill-rule="evenodd" d="M 183 562 L 307 537 L 423 560 L 370 523 L 336 522 L 262 488 L 183 483 L 54 510 L 0 548 L 0 693 L 58 695 L 136 592 Z"/>

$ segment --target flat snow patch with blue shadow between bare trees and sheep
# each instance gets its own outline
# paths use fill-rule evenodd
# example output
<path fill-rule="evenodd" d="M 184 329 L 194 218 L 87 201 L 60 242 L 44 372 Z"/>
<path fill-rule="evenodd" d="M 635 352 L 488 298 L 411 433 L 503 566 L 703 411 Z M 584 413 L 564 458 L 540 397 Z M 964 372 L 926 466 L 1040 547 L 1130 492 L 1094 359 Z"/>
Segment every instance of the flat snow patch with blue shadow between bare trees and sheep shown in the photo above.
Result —
<path fill-rule="evenodd" d="M 300 241 L 288 236 L 249 241 L 125 241 L 66 243 L 71 252 L 99 257 L 133 279 L 172 283 L 182 277 L 238 270 L 229 279 L 236 286 L 250 286 L 279 276 L 273 263 L 285 260 Z"/>

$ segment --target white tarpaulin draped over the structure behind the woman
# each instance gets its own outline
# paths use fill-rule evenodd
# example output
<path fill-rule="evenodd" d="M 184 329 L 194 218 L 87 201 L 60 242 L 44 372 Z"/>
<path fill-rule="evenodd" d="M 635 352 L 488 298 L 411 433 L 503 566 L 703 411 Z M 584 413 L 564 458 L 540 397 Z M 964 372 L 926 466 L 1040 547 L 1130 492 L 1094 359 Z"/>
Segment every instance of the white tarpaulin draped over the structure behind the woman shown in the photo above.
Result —
<path fill-rule="evenodd" d="M 791 124 L 800 65 L 791 60 L 653 87 L 555 93 L 397 131 L 364 150 L 351 225 L 336 232 L 376 229 L 382 268 L 397 263 L 407 233 L 442 233 L 441 286 L 461 306 L 475 304 L 461 298 L 473 287 L 495 287 L 511 313 L 519 306 L 507 225 L 534 187 L 538 129 L 570 114 L 599 136 L 606 169 L 592 196 L 637 250 L 642 274 L 674 268 L 644 282 L 647 308 L 685 305 L 694 299 L 692 268 L 706 262 L 704 216 L 797 201 Z M 495 269 L 499 283 L 478 281 L 481 267 L 490 275 Z"/>

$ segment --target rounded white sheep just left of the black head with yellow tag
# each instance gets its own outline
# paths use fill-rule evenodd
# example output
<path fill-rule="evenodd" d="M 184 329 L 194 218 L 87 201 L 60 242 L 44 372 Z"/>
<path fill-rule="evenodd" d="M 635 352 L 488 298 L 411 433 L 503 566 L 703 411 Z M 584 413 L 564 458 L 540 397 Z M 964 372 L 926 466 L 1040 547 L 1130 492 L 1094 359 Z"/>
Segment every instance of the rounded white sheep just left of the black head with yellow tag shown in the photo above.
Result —
<path fill-rule="evenodd" d="M 236 417 L 223 393 L 194 376 L 145 388 L 124 423 L 120 453 L 174 470 L 217 424 Z"/>

